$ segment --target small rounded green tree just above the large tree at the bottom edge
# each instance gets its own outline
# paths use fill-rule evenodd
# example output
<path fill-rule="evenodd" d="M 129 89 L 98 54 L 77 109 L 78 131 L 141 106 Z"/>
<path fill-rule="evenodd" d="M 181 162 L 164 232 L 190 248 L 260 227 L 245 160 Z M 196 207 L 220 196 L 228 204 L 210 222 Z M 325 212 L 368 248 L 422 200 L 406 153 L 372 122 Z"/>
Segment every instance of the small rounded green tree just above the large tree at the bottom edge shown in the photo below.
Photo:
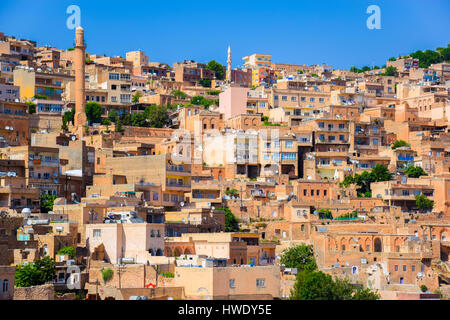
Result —
<path fill-rule="evenodd" d="M 284 250 L 281 254 L 280 263 L 286 268 L 297 268 L 297 271 L 314 271 L 317 269 L 313 247 L 305 244 Z"/>

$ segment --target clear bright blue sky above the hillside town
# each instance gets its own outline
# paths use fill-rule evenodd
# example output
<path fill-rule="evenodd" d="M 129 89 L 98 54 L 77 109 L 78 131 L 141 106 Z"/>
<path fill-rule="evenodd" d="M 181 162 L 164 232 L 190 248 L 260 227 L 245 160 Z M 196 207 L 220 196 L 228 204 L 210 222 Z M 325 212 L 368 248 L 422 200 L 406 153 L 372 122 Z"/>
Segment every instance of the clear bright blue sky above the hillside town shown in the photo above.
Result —
<path fill-rule="evenodd" d="M 450 43 L 448 0 L 106 1 L 1 0 L 0 32 L 58 48 L 73 46 L 66 9 L 81 8 L 88 52 L 150 61 L 184 59 L 233 66 L 252 53 L 274 62 L 383 65 L 391 56 Z M 381 8 L 381 30 L 369 30 L 369 5 Z"/>

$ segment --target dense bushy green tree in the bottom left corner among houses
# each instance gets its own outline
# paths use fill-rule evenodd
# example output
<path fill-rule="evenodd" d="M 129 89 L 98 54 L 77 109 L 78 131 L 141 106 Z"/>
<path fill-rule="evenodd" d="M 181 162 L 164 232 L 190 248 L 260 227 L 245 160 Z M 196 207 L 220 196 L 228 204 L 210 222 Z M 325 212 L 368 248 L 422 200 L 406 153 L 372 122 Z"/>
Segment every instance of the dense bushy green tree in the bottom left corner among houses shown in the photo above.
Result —
<path fill-rule="evenodd" d="M 17 266 L 14 283 L 18 288 L 39 286 L 45 284 L 55 276 L 55 262 L 50 257 L 44 257 L 34 263 Z"/>

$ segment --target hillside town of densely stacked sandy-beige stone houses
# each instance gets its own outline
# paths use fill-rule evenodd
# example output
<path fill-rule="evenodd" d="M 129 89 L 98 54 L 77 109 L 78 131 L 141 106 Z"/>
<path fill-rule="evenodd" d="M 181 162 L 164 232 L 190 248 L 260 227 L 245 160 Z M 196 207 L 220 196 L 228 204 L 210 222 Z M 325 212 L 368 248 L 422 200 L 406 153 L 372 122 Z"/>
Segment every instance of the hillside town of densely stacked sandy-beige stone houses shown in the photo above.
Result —
<path fill-rule="evenodd" d="M 169 65 L 0 32 L 0 300 L 449 299 L 450 47 L 423 50 Z"/>

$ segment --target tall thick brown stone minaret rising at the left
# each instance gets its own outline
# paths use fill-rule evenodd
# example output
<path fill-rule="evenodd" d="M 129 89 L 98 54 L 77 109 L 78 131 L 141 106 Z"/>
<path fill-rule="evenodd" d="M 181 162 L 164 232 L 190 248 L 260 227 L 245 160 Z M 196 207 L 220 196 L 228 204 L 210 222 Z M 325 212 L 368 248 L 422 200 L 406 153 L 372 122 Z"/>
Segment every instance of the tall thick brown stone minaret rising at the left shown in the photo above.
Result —
<path fill-rule="evenodd" d="M 83 127 L 87 123 L 85 113 L 85 50 L 84 30 L 78 27 L 75 31 L 75 129 L 83 135 Z"/>

